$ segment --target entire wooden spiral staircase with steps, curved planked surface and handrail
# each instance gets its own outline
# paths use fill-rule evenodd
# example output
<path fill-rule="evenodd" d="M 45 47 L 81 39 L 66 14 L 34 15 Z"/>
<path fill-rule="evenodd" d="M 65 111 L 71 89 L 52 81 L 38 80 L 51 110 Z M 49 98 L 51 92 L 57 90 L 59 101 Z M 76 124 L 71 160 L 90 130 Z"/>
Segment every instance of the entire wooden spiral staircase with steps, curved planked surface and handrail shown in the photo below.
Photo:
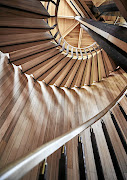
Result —
<path fill-rule="evenodd" d="M 77 0 L 76 2 L 79 3 Z M 39 0 L 0 1 L 0 168 L 34 150 L 28 156 L 3 168 L 0 179 L 19 179 L 39 163 L 24 179 L 126 179 L 126 73 L 121 68 L 114 72 L 118 64 L 98 45 L 93 46 L 92 50 L 87 49 L 88 51 L 80 56 L 73 50 L 69 51 L 60 41 L 57 43 L 57 35 L 49 33 L 55 26 L 50 27 L 47 24 L 48 18 L 52 16 Z M 108 76 L 109 80 L 106 78 Z M 51 88 L 45 84 L 56 87 Z M 92 86 L 85 86 L 84 89 L 84 85 Z M 77 95 L 73 89 L 65 88 L 65 94 L 57 87 L 82 88 L 75 89 Z M 109 88 L 109 92 L 106 88 Z M 55 93 L 57 98 L 54 97 Z M 65 99 L 62 98 L 64 96 Z M 90 107 L 93 101 L 96 110 L 94 105 L 93 110 L 84 109 L 84 97 L 87 106 Z M 71 107 L 73 101 L 75 106 Z M 63 111 L 66 111 L 61 110 L 63 106 L 68 108 L 69 122 L 62 127 L 62 121 L 57 121 L 56 128 L 53 120 L 63 118 Z M 85 121 L 78 117 L 79 122 L 70 122 L 69 119 L 73 119 L 71 113 L 75 116 L 74 120 L 84 114 Z M 42 116 L 46 125 L 40 120 Z M 33 122 L 25 121 L 27 118 Z M 53 134 L 53 128 L 56 128 L 56 134 Z M 21 136 L 18 134 L 20 131 Z M 38 143 L 34 139 L 36 137 Z M 47 143 L 48 141 L 50 142 Z M 21 148 L 18 148 L 20 146 Z M 39 146 L 40 148 L 36 149 Z M 48 162 L 47 157 L 52 153 L 55 155 Z M 106 158 L 109 162 L 106 162 Z M 70 169 L 75 170 L 69 172 L 69 176 L 68 164 Z"/>

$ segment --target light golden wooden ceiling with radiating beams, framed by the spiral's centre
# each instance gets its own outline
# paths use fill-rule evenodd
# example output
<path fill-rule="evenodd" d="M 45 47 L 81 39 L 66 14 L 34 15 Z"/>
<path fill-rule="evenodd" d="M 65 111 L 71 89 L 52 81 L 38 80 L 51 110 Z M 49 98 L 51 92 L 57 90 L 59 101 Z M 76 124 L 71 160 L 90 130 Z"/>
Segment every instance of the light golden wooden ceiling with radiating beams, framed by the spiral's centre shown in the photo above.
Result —
<path fill-rule="evenodd" d="M 72 46 L 84 48 L 94 43 L 90 35 L 80 28 L 80 24 L 74 19 L 77 12 L 68 0 L 61 0 L 58 11 L 58 26 L 61 35 Z"/>

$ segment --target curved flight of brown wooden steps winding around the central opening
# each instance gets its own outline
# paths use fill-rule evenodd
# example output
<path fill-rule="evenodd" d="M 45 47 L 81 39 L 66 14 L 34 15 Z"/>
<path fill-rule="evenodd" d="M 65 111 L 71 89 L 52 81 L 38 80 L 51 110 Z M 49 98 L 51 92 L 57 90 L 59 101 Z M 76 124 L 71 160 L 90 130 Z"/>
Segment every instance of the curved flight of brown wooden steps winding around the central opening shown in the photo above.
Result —
<path fill-rule="evenodd" d="M 51 42 L 54 37 L 46 32 L 51 27 L 42 20 L 50 15 L 39 1 L 33 1 L 32 6 L 31 1 L 0 3 L 0 48 L 9 53 L 10 63 L 21 66 L 22 73 L 49 85 L 71 88 L 91 85 L 116 69 L 103 49 L 73 58 L 64 47 Z"/>

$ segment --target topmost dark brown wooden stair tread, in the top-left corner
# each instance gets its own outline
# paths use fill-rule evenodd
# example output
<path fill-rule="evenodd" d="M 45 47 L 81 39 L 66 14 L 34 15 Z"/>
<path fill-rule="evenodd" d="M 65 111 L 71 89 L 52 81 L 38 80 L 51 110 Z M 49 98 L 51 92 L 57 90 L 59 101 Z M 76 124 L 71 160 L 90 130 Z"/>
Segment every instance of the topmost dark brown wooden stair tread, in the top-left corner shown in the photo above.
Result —
<path fill-rule="evenodd" d="M 28 12 L 32 12 L 32 13 L 36 13 L 39 15 L 45 15 L 45 16 L 49 16 L 49 13 L 47 12 L 47 10 L 44 8 L 44 6 L 42 5 L 42 3 L 40 1 L 37 0 L 1 0 L 0 1 L 1 5 L 7 6 L 7 7 L 11 7 L 11 8 L 15 8 L 15 9 L 19 9 L 22 11 L 28 11 Z"/>

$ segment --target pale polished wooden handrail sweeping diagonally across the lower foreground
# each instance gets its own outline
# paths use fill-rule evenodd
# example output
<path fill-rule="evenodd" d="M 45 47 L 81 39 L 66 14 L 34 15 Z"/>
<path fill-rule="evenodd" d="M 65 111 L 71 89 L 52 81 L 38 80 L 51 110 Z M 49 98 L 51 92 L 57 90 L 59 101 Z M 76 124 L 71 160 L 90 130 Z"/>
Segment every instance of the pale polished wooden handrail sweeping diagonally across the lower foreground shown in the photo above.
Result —
<path fill-rule="evenodd" d="M 41 161 L 47 158 L 49 155 L 54 153 L 57 149 L 63 146 L 65 143 L 73 139 L 75 136 L 80 134 L 82 131 L 90 127 L 100 118 L 102 118 L 113 106 L 117 103 L 120 98 L 122 98 L 125 93 L 127 86 L 123 89 L 123 91 L 117 96 L 117 98 L 110 103 L 105 109 L 103 109 L 100 113 L 81 124 L 77 128 L 74 128 L 67 133 L 55 138 L 54 140 L 40 146 L 27 156 L 20 158 L 19 160 L 9 164 L 5 168 L 0 171 L 0 179 L 20 179 L 27 172 L 29 172 L 32 168 L 38 165 Z"/>

